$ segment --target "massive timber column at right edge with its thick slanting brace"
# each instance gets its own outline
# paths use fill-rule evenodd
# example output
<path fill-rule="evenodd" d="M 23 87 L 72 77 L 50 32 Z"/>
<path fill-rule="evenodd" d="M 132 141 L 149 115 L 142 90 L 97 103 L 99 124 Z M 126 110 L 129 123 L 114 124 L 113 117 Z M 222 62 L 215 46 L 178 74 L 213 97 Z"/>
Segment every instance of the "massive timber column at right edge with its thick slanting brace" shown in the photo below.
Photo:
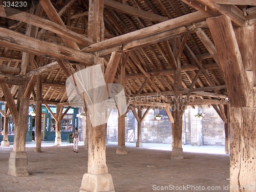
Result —
<path fill-rule="evenodd" d="M 255 26 L 233 29 L 228 16 L 207 19 L 230 103 L 230 186 L 232 191 L 255 191 L 256 121 Z"/>

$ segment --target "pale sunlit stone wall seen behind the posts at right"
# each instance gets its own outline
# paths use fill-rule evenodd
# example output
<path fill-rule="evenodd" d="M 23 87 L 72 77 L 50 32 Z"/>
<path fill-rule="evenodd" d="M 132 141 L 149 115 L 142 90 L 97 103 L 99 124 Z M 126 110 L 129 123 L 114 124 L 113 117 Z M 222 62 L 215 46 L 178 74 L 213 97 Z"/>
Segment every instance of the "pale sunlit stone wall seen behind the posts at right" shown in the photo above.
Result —
<path fill-rule="evenodd" d="M 144 112 L 142 112 L 143 115 Z M 155 114 L 162 114 L 163 119 L 156 120 Z M 198 119 L 198 113 L 204 113 L 205 117 Z M 200 109 L 196 107 L 186 109 L 183 115 L 182 143 L 191 145 L 224 145 L 224 123 L 213 108 Z M 117 110 L 113 110 L 108 120 L 107 138 L 109 141 L 117 141 Z M 164 110 L 150 110 L 142 122 L 142 142 L 172 143 L 172 123 L 170 123 Z M 130 130 L 130 131 L 129 131 Z M 127 113 L 125 119 L 125 142 L 133 132 L 132 142 L 137 140 L 137 120 L 132 111 Z"/>

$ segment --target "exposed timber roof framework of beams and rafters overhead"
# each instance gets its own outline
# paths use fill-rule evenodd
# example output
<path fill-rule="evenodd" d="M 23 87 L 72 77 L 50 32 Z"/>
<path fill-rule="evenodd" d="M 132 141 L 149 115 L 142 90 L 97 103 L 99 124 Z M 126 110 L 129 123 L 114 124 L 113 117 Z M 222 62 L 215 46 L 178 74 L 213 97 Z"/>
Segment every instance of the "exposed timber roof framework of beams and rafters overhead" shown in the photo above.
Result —
<path fill-rule="evenodd" d="M 174 90 L 190 105 L 226 104 L 224 74 L 206 19 L 226 14 L 233 27 L 256 24 L 254 0 L 104 0 L 104 40 L 87 38 L 89 0 L 41 0 L 26 12 L 7 9 L 0 1 L 0 99 L 3 83 L 16 100 L 24 78 L 36 100 L 36 76 L 42 79 L 42 103 L 66 103 L 67 75 L 58 59 L 73 68 L 91 66 L 111 53 L 123 53 L 125 93 L 147 102 L 166 103 Z M 239 5 L 236 5 L 239 4 Z M 28 30 L 33 28 L 33 30 Z M 30 31 L 30 33 L 28 33 Z M 24 74 L 22 61 L 31 54 L 32 68 Z M 181 68 L 180 87 L 174 71 Z M 117 82 L 120 67 L 114 82 Z M 161 105 L 161 104 L 160 104 Z M 159 105 L 159 106 L 160 106 Z"/>

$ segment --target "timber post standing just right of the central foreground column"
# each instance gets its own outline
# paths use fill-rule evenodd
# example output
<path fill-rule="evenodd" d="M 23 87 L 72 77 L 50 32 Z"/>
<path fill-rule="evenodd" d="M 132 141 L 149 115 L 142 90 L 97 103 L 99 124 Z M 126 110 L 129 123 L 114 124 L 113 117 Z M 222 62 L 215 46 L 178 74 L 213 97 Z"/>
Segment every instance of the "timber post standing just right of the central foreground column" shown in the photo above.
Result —
<path fill-rule="evenodd" d="M 123 62 L 124 54 L 120 59 L 120 74 L 118 74 L 118 83 L 125 87 L 125 63 Z M 119 98 L 118 98 L 119 99 Z M 117 154 L 127 154 L 125 147 L 125 115 L 118 116 L 118 137 L 117 137 Z"/>

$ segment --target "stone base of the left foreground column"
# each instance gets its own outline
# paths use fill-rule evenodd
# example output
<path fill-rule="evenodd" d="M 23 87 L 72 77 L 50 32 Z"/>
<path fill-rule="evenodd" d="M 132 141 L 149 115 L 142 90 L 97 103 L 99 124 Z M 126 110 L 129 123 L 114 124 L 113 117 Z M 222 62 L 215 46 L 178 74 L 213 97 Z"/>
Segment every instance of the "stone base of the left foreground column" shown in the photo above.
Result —
<path fill-rule="evenodd" d="M 8 174 L 16 177 L 29 176 L 26 152 L 11 152 Z"/>

